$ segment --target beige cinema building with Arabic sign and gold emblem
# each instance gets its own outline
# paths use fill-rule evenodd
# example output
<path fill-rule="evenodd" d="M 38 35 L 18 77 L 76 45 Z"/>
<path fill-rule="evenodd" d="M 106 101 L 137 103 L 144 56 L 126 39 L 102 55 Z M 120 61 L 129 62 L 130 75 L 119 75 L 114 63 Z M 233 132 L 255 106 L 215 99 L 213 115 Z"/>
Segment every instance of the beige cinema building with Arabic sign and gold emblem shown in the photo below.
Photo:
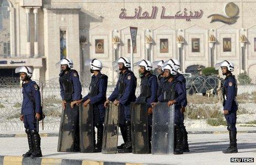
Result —
<path fill-rule="evenodd" d="M 235 74 L 256 76 L 256 1 L 1 0 L 0 76 L 34 68 L 34 79 L 56 78 L 55 64 L 100 59 L 109 80 L 112 62 L 130 57 L 130 26 L 137 30 L 134 61 L 176 58 L 182 72 L 228 59 Z M 84 72 L 82 72 L 85 70 Z"/>

